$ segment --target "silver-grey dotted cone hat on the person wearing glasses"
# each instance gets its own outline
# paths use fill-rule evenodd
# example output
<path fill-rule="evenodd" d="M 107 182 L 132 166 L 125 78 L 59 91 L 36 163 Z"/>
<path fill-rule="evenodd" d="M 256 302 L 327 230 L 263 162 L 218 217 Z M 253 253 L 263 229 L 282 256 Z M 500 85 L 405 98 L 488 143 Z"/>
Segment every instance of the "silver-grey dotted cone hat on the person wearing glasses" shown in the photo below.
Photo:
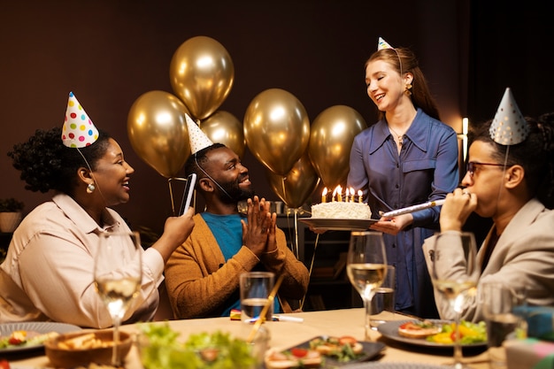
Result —
<path fill-rule="evenodd" d="M 489 128 L 490 138 L 501 145 L 515 145 L 523 142 L 529 135 L 529 126 L 519 111 L 512 96 L 512 90 L 506 88 L 495 119 Z"/>

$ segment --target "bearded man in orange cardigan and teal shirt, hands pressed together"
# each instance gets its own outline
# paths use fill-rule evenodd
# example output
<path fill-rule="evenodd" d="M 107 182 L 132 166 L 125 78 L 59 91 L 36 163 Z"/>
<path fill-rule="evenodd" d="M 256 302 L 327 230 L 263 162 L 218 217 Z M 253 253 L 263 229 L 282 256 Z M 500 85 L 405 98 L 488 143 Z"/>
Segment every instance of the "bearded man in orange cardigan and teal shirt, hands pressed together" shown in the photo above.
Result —
<path fill-rule="evenodd" d="M 196 129 L 189 127 L 189 135 L 190 128 Z M 196 173 L 205 211 L 194 216 L 192 234 L 165 265 L 174 318 L 228 317 L 240 309 L 239 275 L 250 271 L 284 274 L 275 311 L 289 312 L 287 299 L 303 298 L 309 274 L 275 226 L 277 215 L 265 199 L 254 196 L 248 169 L 233 150 L 220 143 L 192 150 L 185 173 Z M 238 211 L 243 200 L 247 216 Z"/>

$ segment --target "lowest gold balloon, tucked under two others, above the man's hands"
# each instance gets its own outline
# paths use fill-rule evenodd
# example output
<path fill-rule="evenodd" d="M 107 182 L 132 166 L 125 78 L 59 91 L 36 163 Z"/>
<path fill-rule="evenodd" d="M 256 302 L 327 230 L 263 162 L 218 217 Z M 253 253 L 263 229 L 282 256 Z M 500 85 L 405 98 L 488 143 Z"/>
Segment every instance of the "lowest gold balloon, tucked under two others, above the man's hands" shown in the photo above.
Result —
<path fill-rule="evenodd" d="M 293 165 L 289 173 L 279 175 L 265 169 L 265 174 L 275 195 L 293 209 L 302 206 L 319 184 L 318 173 L 307 152 Z"/>

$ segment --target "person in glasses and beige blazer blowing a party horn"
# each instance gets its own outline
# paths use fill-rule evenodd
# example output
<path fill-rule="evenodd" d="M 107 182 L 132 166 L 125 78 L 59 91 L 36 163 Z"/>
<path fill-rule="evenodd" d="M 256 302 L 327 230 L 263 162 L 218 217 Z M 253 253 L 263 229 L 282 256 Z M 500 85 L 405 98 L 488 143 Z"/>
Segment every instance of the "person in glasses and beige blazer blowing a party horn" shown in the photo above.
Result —
<path fill-rule="evenodd" d="M 525 121 L 527 138 L 511 145 L 491 137 L 493 121 L 472 127 L 467 172 L 462 181 L 466 188 L 457 188 L 446 196 L 440 223 L 441 232 L 447 237 L 444 244 L 437 246 L 441 253 L 455 252 L 455 240 L 473 211 L 491 218 L 493 226 L 477 254 L 481 278 L 475 295 L 479 296 L 483 283 L 501 282 L 514 290 L 524 288 L 527 304 L 552 306 L 554 113 Z M 429 254 L 433 242 L 434 237 L 424 245 L 429 268 L 440 262 L 432 260 Z M 449 304 L 439 294 L 435 296 L 441 318 L 452 319 L 454 312 Z M 484 319 L 478 301 L 475 296 L 466 296 L 462 319 L 475 322 Z"/>

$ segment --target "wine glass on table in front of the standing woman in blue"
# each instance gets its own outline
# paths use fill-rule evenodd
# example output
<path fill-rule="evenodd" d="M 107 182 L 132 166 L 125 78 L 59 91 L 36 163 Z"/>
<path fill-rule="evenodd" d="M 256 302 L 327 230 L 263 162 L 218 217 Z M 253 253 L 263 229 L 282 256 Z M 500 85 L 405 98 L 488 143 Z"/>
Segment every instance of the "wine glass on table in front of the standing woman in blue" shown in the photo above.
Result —
<path fill-rule="evenodd" d="M 371 302 L 387 273 L 387 255 L 381 232 L 354 231 L 346 259 L 350 283 L 358 290 L 365 307 L 365 341 L 371 341 Z"/>

